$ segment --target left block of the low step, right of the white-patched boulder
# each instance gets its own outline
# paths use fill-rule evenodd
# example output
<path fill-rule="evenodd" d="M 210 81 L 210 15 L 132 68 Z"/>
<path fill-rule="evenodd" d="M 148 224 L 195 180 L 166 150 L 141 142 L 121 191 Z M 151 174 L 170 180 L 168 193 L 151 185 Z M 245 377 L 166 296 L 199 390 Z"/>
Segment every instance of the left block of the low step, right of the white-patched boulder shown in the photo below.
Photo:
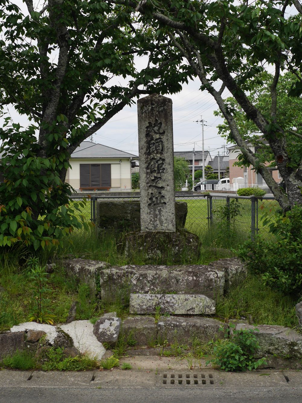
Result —
<path fill-rule="evenodd" d="M 134 339 L 137 346 L 154 345 L 157 339 L 155 319 L 151 316 L 129 316 L 122 321 L 121 334 Z"/>

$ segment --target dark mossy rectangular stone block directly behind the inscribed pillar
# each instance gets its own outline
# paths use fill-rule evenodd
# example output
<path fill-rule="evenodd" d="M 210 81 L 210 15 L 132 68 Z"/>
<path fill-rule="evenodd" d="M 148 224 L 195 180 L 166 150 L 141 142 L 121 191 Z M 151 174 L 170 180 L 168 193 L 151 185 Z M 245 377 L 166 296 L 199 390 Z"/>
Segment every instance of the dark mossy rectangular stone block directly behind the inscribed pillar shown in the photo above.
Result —
<path fill-rule="evenodd" d="M 96 226 L 116 231 L 141 231 L 141 202 L 139 200 L 107 201 L 96 203 Z M 176 228 L 182 229 L 186 223 L 188 205 L 175 202 Z"/>

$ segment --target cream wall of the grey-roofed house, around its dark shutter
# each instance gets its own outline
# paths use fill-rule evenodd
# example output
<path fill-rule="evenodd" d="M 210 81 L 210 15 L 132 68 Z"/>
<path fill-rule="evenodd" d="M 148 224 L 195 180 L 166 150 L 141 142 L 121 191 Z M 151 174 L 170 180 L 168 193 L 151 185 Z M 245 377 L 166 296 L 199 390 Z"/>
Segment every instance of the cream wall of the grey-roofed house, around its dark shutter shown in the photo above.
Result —
<path fill-rule="evenodd" d="M 130 158 L 71 158 L 69 163 L 65 181 L 74 189 L 80 188 L 80 164 L 111 164 L 111 189 L 131 189 Z"/>

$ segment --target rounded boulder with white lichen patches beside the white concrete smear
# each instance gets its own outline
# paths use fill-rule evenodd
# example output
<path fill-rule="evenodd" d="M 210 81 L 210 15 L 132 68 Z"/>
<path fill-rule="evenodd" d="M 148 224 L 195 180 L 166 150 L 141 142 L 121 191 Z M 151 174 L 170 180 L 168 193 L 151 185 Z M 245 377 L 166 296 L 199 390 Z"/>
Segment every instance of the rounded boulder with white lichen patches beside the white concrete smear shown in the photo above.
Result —
<path fill-rule="evenodd" d="M 122 320 L 116 316 L 106 315 L 99 318 L 93 326 L 93 334 L 100 343 L 108 343 L 115 347 L 120 333 Z"/>

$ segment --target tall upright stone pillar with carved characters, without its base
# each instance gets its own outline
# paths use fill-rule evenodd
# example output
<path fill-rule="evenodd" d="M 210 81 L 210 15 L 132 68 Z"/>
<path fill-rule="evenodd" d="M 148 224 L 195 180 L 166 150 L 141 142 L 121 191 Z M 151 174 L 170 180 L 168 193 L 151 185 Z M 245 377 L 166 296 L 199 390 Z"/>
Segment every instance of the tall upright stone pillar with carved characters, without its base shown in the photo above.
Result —
<path fill-rule="evenodd" d="M 141 230 L 176 231 L 172 100 L 159 94 L 137 102 Z"/>

